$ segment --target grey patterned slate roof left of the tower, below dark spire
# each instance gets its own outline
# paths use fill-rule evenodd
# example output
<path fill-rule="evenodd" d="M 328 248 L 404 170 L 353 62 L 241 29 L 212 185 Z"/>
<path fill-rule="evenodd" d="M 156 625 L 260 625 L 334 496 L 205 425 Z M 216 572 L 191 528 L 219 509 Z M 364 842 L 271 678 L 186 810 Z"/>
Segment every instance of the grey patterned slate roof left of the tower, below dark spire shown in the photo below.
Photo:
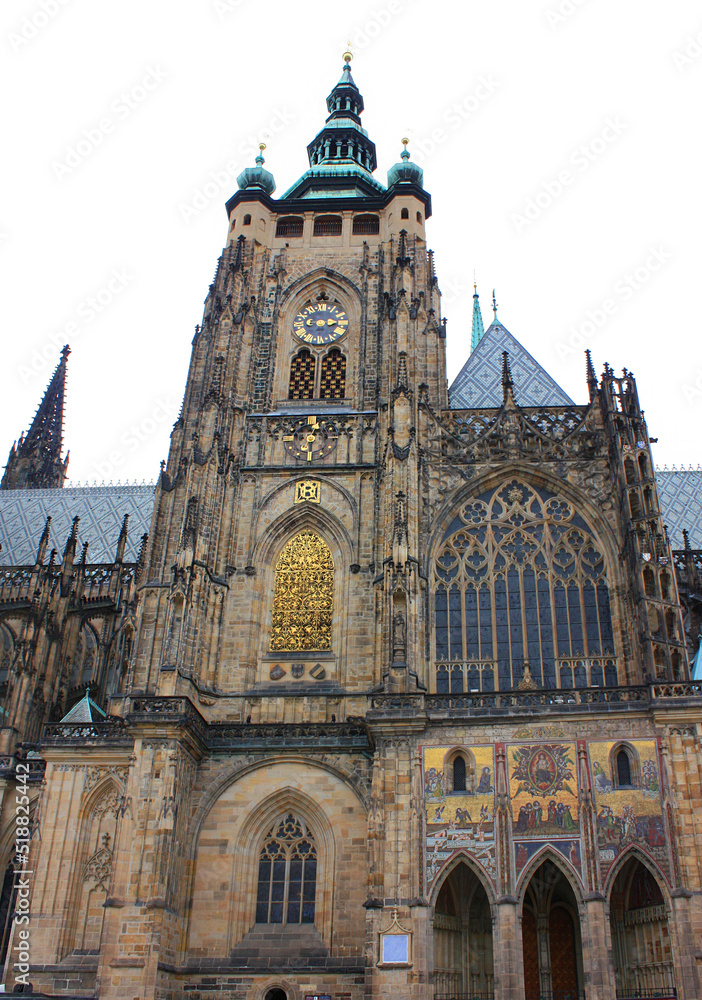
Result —
<path fill-rule="evenodd" d="M 151 527 L 153 483 L 75 486 L 56 490 L 0 490 L 0 566 L 34 563 L 46 518 L 51 516 L 48 551 L 59 557 L 78 515 L 78 548 L 88 542 L 89 563 L 114 560 L 122 521 L 129 514 L 125 561 L 134 562 L 141 536 Z"/>

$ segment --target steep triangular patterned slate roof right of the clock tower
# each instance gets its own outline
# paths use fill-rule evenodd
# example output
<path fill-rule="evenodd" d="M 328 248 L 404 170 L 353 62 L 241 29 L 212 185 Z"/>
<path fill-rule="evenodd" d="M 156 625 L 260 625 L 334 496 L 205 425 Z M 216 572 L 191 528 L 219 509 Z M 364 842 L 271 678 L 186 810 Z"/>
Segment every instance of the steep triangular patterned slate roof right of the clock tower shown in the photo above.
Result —
<path fill-rule="evenodd" d="M 573 400 L 523 347 L 495 320 L 485 331 L 449 388 L 455 410 L 502 406 L 502 352 L 509 354 L 514 398 L 519 406 L 573 406 Z"/>

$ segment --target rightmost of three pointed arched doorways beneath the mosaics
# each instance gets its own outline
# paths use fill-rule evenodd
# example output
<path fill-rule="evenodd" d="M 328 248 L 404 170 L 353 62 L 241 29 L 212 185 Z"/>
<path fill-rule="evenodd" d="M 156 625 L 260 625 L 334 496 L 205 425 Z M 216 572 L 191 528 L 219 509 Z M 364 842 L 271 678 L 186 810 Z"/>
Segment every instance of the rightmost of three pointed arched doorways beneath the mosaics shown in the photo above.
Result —
<path fill-rule="evenodd" d="M 617 997 L 674 996 L 668 914 L 654 875 L 637 857 L 623 865 L 610 897 Z"/>

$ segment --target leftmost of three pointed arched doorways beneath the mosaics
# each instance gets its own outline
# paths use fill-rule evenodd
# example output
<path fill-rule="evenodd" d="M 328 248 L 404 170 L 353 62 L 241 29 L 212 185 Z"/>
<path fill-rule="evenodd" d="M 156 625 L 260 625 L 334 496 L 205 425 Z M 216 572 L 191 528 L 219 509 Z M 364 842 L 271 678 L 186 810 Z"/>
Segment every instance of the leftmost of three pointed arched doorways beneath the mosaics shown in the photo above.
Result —
<path fill-rule="evenodd" d="M 434 907 L 435 997 L 493 995 L 492 914 L 468 865 L 446 876 Z"/>

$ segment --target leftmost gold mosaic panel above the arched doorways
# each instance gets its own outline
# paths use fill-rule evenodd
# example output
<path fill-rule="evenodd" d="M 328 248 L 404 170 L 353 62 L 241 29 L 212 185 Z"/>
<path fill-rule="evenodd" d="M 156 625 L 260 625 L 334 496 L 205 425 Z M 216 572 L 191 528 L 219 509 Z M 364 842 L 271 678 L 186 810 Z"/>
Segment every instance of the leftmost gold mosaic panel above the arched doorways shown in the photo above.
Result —
<path fill-rule="evenodd" d="M 476 860 L 493 880 L 496 875 L 493 747 L 464 748 L 469 760 L 475 761 L 472 792 L 447 792 L 449 774 L 445 758 L 455 749 L 455 746 L 425 747 L 423 752 L 427 890 L 445 862 L 458 852 Z M 467 786 L 471 787 L 470 781 Z"/>

